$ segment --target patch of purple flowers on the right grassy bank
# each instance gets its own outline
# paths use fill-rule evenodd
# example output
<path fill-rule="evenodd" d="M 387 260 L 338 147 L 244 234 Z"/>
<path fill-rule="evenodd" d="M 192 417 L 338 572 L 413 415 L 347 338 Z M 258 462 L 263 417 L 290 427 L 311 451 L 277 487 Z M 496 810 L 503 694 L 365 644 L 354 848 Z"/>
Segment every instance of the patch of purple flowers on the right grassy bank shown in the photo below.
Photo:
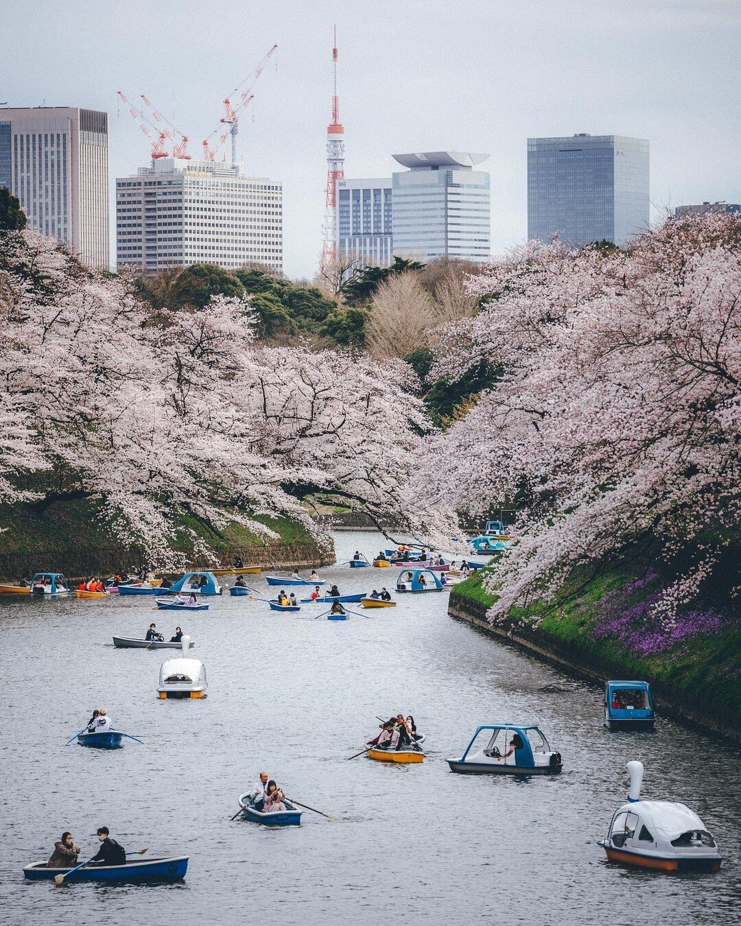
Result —
<path fill-rule="evenodd" d="M 724 627 L 721 615 L 710 608 L 676 613 L 671 619 L 657 613 L 662 594 L 659 576 L 652 571 L 614 589 L 597 601 L 593 634 L 597 639 L 618 640 L 641 656 L 651 656 L 698 633 Z"/>

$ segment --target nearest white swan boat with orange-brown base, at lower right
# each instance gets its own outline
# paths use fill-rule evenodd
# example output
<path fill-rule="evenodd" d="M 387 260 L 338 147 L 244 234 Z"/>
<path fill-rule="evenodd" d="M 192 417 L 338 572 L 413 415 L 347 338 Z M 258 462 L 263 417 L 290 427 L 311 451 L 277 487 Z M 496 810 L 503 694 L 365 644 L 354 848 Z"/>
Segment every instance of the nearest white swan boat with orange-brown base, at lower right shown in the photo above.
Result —
<path fill-rule="evenodd" d="M 697 814 L 676 801 L 641 800 L 643 763 L 628 762 L 628 803 L 618 807 L 607 839 L 609 861 L 659 871 L 717 871 L 722 857 Z"/>

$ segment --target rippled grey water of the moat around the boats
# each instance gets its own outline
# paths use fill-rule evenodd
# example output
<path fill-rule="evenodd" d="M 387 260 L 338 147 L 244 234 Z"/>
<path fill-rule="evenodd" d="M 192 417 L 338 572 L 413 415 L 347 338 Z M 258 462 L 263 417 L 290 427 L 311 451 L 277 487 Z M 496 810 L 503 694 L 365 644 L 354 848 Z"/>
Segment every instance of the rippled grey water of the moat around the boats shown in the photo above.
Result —
<path fill-rule="evenodd" d="M 340 561 L 383 545 L 371 532 L 336 542 Z M 389 572 L 338 565 L 322 575 L 365 591 L 391 584 Z M 167 654 L 111 644 L 114 633 L 143 636 L 152 619 L 170 635 L 179 615 L 132 597 L 0 602 L 3 923 L 737 921 L 735 747 L 669 720 L 653 733 L 605 731 L 596 687 L 448 618 L 447 593 L 345 622 L 312 619 L 310 607 L 285 616 L 245 598 L 210 602 L 185 627 L 207 667 L 203 701 L 158 700 Z M 99 705 L 145 745 L 62 747 Z M 398 711 L 427 734 L 424 764 L 347 761 L 377 714 Z M 445 758 L 477 724 L 499 720 L 539 724 L 563 773 L 451 774 Z M 647 767 L 645 796 L 697 810 L 722 870 L 672 876 L 605 862 L 597 839 L 624 800 L 631 758 Z M 261 769 L 339 819 L 307 812 L 300 828 L 278 831 L 229 822 Z M 185 882 L 24 882 L 23 865 L 48 857 L 63 830 L 93 855 L 103 824 L 127 849 L 189 855 Z"/>

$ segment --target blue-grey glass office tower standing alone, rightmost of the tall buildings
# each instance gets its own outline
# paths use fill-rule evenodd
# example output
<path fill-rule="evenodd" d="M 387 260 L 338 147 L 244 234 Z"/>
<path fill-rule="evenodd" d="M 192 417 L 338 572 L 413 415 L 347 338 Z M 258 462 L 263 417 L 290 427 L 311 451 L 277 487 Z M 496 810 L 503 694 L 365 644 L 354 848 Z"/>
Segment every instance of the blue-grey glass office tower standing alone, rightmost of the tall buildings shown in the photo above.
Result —
<path fill-rule="evenodd" d="M 648 227 L 648 142 L 622 135 L 527 140 L 529 238 L 624 245 Z"/>

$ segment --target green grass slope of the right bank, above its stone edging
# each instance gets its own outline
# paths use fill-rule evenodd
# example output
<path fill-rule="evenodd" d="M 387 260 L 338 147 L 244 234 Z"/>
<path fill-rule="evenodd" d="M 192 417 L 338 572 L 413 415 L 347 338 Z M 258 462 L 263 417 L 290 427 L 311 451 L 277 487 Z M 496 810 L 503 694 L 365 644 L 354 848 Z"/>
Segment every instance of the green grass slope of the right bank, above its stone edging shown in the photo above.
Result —
<path fill-rule="evenodd" d="M 610 663 L 622 667 L 629 677 L 658 680 L 706 702 L 741 712 L 741 629 L 731 621 L 718 632 L 697 633 L 659 653 L 639 654 L 620 641 L 597 637 L 601 617 L 600 601 L 621 590 L 632 576 L 619 570 L 586 581 L 573 580 L 561 589 L 559 604 L 534 602 L 526 609 L 510 612 L 512 624 L 536 622 L 540 632 L 568 644 L 571 653 L 585 664 Z M 491 607 L 495 596 L 483 586 L 484 574 L 477 572 L 452 592 L 465 607 Z"/>

